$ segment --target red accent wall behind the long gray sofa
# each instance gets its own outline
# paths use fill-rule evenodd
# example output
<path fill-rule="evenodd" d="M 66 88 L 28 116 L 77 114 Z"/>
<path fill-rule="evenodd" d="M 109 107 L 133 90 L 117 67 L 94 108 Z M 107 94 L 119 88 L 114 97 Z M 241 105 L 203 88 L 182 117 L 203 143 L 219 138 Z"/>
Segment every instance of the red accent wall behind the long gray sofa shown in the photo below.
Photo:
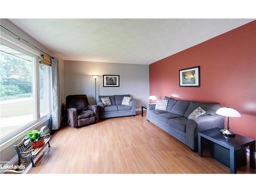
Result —
<path fill-rule="evenodd" d="M 194 66 L 201 87 L 179 87 L 179 70 Z M 230 129 L 256 139 L 256 20 L 152 63 L 150 95 L 228 104 L 242 115 Z"/>

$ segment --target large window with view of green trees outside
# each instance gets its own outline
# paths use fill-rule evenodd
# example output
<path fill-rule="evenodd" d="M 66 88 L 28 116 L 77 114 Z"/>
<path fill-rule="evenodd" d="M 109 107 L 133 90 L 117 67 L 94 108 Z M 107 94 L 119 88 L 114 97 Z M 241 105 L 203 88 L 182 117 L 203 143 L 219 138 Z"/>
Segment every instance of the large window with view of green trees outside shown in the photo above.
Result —
<path fill-rule="evenodd" d="M 0 138 L 49 114 L 49 68 L 36 55 L 0 42 Z"/>

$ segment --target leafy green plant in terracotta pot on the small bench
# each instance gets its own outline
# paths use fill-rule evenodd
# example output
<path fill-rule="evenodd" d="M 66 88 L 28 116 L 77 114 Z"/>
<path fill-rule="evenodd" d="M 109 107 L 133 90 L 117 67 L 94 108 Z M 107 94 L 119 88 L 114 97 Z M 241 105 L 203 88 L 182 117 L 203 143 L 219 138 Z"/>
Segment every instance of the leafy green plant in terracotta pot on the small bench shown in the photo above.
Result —
<path fill-rule="evenodd" d="M 44 146 L 45 144 L 45 138 L 47 135 L 42 135 L 42 132 L 47 126 L 41 127 L 40 131 L 38 132 L 37 130 L 33 130 L 29 133 L 27 133 L 26 137 L 24 139 L 27 139 L 24 144 L 27 145 L 29 142 L 32 143 L 33 148 L 39 148 Z"/>

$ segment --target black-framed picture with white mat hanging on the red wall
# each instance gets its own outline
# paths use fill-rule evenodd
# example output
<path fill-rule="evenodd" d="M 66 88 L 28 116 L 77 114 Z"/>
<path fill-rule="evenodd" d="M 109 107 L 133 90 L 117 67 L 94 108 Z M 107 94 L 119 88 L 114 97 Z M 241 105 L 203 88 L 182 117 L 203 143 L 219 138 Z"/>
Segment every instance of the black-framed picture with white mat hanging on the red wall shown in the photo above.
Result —
<path fill-rule="evenodd" d="M 180 87 L 200 87 L 200 66 L 179 70 Z"/>

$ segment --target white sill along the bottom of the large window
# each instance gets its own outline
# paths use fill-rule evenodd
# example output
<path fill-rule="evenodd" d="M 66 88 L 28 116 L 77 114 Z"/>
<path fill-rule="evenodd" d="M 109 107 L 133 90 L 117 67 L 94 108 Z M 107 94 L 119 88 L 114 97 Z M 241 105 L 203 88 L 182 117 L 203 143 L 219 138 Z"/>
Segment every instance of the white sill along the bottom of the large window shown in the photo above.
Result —
<path fill-rule="evenodd" d="M 8 146 L 12 145 L 17 140 L 25 137 L 25 134 L 27 132 L 32 131 L 33 129 L 40 126 L 42 123 L 48 121 L 49 119 L 50 119 L 49 115 L 44 116 L 39 121 L 36 121 L 28 125 L 28 127 L 24 127 L 24 129 L 17 130 L 16 132 L 11 133 L 10 135 L 0 139 L 0 152 L 2 152 Z"/>

